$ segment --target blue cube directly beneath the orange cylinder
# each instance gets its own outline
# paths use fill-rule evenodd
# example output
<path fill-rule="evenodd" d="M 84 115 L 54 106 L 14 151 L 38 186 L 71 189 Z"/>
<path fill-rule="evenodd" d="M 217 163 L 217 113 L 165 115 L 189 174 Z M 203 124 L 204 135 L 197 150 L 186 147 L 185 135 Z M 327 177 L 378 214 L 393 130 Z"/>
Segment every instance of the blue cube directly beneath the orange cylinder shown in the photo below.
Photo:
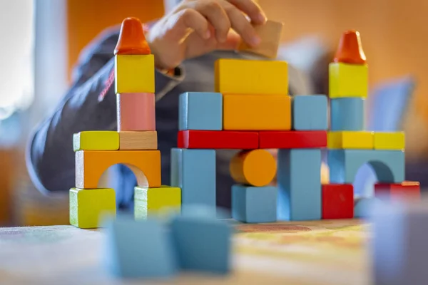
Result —
<path fill-rule="evenodd" d="M 240 222 L 276 222 L 277 187 L 233 185 L 232 217 Z"/>

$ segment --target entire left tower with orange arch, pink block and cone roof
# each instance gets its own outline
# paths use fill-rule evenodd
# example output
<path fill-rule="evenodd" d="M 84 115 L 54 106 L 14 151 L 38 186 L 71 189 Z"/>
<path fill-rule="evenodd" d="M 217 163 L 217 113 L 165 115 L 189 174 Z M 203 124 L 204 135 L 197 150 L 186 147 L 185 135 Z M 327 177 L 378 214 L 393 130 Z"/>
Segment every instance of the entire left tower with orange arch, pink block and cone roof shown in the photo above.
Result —
<path fill-rule="evenodd" d="M 116 215 L 113 189 L 98 188 L 108 167 L 127 165 L 136 175 L 135 216 L 180 211 L 181 191 L 161 185 L 161 152 L 155 118 L 155 65 L 141 21 L 123 21 L 115 55 L 117 131 L 84 131 L 73 136 L 76 188 L 70 190 L 70 223 L 99 227 L 103 215 Z"/>

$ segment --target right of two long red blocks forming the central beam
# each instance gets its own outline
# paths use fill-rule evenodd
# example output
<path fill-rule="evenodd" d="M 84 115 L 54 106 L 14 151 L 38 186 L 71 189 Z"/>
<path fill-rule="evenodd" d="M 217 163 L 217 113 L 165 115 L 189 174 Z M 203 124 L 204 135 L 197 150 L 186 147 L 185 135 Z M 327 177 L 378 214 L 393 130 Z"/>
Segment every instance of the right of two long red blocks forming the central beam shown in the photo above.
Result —
<path fill-rule="evenodd" d="M 259 132 L 259 148 L 327 147 L 327 131 L 266 131 Z"/>

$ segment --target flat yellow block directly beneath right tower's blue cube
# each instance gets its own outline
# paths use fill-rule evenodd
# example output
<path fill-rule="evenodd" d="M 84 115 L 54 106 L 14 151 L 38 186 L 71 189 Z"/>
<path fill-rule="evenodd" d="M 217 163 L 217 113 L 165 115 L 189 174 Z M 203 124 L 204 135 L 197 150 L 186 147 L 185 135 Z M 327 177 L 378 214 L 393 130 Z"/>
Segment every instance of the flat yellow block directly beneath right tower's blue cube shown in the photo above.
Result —
<path fill-rule="evenodd" d="M 351 149 L 372 149 L 373 133 L 360 131 L 340 131 L 329 132 L 327 136 L 328 148 L 351 148 Z"/>

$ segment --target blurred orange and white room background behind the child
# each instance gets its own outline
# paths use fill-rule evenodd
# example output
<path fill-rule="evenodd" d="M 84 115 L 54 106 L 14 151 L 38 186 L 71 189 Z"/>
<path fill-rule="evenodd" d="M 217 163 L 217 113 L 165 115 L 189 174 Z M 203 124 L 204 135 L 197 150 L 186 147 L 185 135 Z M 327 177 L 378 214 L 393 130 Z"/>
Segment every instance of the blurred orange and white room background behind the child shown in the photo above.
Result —
<path fill-rule="evenodd" d="M 372 90 L 367 126 L 406 131 L 407 179 L 421 180 L 423 187 L 428 176 L 428 2 L 258 2 L 268 18 L 285 23 L 280 58 L 302 71 L 307 93 L 327 93 L 327 65 L 342 31 L 360 31 Z M 31 130 L 66 92 L 82 48 L 127 16 L 158 19 L 163 1 L 0 1 L 0 11 L 0 226 L 68 224 L 68 192 L 46 197 L 29 180 L 24 156 Z"/>

